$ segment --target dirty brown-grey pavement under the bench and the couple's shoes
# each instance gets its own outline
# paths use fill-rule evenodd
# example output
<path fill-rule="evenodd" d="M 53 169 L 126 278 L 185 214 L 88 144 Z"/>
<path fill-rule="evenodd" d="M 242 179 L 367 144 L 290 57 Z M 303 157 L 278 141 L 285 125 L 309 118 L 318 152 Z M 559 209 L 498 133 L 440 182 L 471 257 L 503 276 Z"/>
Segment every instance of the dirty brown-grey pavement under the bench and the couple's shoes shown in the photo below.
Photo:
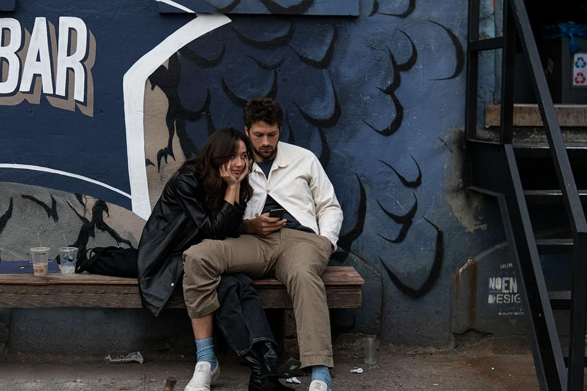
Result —
<path fill-rule="evenodd" d="M 338 346 L 333 370 L 334 391 L 392 391 L 392 390 L 459 390 L 459 391 L 534 391 L 538 384 L 532 355 L 528 348 L 501 351 L 499 345 L 485 340 L 476 346 L 462 346 L 449 351 L 410 352 L 386 347 L 379 364 L 369 366 L 362 359 L 348 354 L 353 344 Z M 356 345 L 356 344 L 355 344 Z M 512 352 L 513 351 L 513 352 Z M 191 378 L 195 360 L 192 356 L 158 353 L 150 358 L 144 353 L 143 364 L 106 365 L 101 361 L 80 362 L 80 358 L 64 361 L 50 356 L 31 358 L 9 356 L 0 362 L 0 389 L 6 391 L 162 391 L 168 376 L 178 379 L 175 391 L 183 391 Z M 39 361 L 42 359 L 42 361 Z M 219 357 L 220 380 L 212 391 L 247 390 L 249 371 L 239 365 L 234 355 Z M 357 366 L 362 374 L 350 373 Z M 308 377 L 300 377 L 307 390 Z"/>

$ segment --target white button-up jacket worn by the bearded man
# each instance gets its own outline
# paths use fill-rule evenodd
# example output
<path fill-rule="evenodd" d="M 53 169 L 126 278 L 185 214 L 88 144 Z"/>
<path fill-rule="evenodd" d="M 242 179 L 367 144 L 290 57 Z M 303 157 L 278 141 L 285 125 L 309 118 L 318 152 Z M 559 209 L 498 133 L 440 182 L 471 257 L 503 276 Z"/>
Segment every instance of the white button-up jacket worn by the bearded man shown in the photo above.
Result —
<path fill-rule="evenodd" d="M 279 141 L 268 178 L 257 163 L 249 174 L 253 195 L 245 219 L 259 216 L 267 195 L 298 222 L 328 237 L 336 249 L 342 226 L 342 209 L 320 161 L 308 149 Z"/>

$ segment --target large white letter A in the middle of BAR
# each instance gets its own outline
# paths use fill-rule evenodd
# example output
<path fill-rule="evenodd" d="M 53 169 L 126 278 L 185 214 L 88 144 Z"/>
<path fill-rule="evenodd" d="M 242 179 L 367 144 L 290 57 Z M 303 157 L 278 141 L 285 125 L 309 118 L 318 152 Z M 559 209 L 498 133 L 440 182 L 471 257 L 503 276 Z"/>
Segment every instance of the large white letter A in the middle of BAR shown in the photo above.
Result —
<path fill-rule="evenodd" d="M 37 56 L 39 61 L 37 61 Z M 21 92 L 30 92 L 33 76 L 40 74 L 43 80 L 43 93 L 53 94 L 53 74 L 49 56 L 49 35 L 45 18 L 36 18 L 29 51 L 26 53 L 25 65 L 22 68 Z"/>

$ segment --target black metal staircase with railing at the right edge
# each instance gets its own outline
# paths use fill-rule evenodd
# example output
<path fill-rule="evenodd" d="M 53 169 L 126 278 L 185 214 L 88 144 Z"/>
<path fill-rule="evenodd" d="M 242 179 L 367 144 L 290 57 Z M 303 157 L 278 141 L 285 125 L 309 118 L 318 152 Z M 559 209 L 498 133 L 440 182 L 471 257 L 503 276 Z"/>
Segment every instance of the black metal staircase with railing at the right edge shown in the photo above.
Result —
<path fill-rule="evenodd" d="M 569 148 L 567 151 L 565 148 L 524 0 L 504 0 L 503 35 L 498 38 L 479 39 L 479 9 L 479 0 L 469 1 L 465 131 L 471 171 L 467 185 L 474 191 L 494 195 L 498 199 L 510 253 L 517 265 L 518 286 L 522 287 L 522 305 L 540 389 L 583 390 L 587 222 L 581 198 L 585 198 L 587 192 L 579 192 L 577 189 L 569 154 L 581 153 L 585 148 L 580 145 L 576 150 Z M 517 44 L 524 52 L 548 145 L 513 142 L 514 60 Z M 498 142 L 477 139 L 479 53 L 494 49 L 502 50 L 501 124 Z M 559 189 L 524 188 L 525 183 L 522 182 L 519 169 L 521 161 L 525 158 L 544 157 L 546 154 L 551 156 Z M 537 240 L 528 212 L 528 203 L 534 202 L 562 202 L 568 217 L 569 237 Z M 571 252 L 571 290 L 549 293 L 539 254 Z M 571 312 L 568 346 L 561 347 L 559 342 L 553 308 L 568 308 Z"/>

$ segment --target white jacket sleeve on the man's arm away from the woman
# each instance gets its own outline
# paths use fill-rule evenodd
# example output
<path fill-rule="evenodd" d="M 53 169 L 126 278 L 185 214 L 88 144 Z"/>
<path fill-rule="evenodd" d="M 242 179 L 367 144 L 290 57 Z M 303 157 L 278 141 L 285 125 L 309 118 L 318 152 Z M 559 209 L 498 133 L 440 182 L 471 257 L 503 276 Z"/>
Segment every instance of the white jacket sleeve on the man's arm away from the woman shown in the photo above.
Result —
<path fill-rule="evenodd" d="M 322 164 L 312 154 L 311 175 L 309 187 L 316 206 L 316 220 L 318 220 L 319 234 L 328 237 L 334 250 L 342 227 L 342 209 L 336 199 L 334 186 L 322 168 Z"/>

